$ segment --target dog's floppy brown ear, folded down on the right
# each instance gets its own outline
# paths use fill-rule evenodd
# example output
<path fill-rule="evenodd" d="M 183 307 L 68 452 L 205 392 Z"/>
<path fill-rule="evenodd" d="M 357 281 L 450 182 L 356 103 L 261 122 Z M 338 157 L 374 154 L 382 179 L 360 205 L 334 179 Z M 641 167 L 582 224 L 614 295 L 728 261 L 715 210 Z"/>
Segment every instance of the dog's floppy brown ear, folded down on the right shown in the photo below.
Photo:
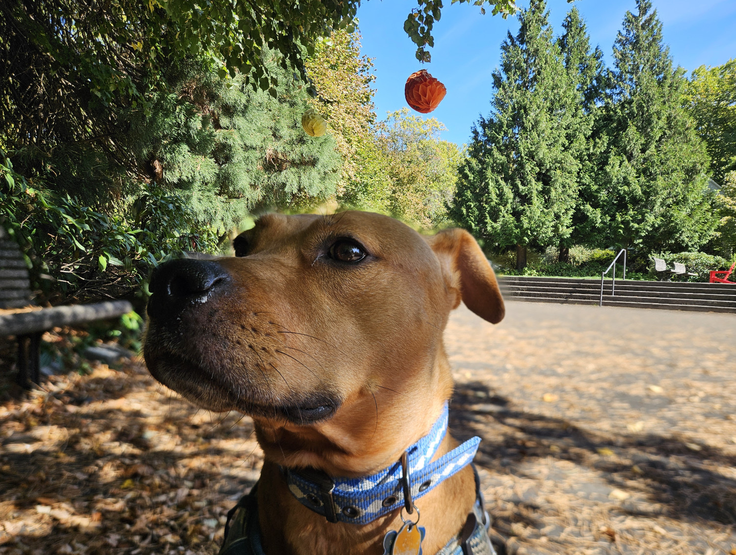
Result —
<path fill-rule="evenodd" d="M 506 314 L 496 275 L 478 242 L 461 229 L 442 230 L 427 237 L 442 265 L 448 289 L 454 290 L 457 308 L 460 300 L 479 317 L 498 324 Z"/>

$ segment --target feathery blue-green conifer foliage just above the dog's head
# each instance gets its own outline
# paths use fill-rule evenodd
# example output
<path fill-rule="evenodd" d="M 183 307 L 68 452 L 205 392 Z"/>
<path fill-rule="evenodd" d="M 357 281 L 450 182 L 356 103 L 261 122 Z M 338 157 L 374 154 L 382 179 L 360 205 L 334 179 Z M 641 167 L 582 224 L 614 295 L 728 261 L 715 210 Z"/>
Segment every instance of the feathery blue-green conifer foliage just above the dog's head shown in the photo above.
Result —
<path fill-rule="evenodd" d="M 265 55 L 280 75 L 277 56 Z M 177 191 L 200 225 L 223 233 L 258 207 L 335 193 L 341 160 L 331 135 L 302 130 L 304 88 L 283 79 L 276 99 L 194 62 L 173 66 L 166 79 L 168 92 L 156 93 L 148 115 L 132 112 L 127 142 L 149 178 Z"/>

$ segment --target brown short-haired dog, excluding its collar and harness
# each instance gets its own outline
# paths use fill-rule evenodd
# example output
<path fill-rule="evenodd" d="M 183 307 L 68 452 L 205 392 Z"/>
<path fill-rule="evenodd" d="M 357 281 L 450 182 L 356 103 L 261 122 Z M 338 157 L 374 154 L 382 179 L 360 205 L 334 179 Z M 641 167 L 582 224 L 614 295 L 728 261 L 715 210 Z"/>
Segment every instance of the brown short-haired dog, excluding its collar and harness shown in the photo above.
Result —
<path fill-rule="evenodd" d="M 442 332 L 463 300 L 503 318 L 495 275 L 469 233 L 425 237 L 387 216 L 262 216 L 236 258 L 174 261 L 152 276 L 150 372 L 213 411 L 255 423 L 263 550 L 377 554 L 396 509 L 329 523 L 290 495 L 281 467 L 359 477 L 427 434 L 453 389 Z M 436 453 L 458 443 L 445 436 Z M 459 533 L 475 502 L 470 467 L 417 500 L 425 555 Z"/>

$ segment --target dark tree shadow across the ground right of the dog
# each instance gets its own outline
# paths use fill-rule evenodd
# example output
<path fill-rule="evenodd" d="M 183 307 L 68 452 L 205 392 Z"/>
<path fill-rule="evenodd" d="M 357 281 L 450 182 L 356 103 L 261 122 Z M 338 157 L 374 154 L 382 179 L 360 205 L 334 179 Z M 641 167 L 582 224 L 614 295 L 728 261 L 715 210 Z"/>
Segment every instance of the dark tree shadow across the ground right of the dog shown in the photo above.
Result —
<path fill-rule="evenodd" d="M 613 488 L 643 494 L 653 506 L 665 507 L 664 513 L 650 513 L 623 505 L 624 513 L 736 523 L 736 480 L 717 471 L 734 467 L 736 457 L 716 448 L 688 444 L 677 436 L 592 433 L 567 420 L 514 410 L 509 399 L 478 381 L 458 384 L 450 429 L 458 439 L 481 436 L 475 462 L 492 473 L 523 474 L 532 459 L 565 460 L 597 471 Z M 518 503 L 538 508 L 534 500 Z M 524 520 L 522 513 L 518 515 Z M 513 524 L 497 519 L 494 526 L 509 534 Z"/>

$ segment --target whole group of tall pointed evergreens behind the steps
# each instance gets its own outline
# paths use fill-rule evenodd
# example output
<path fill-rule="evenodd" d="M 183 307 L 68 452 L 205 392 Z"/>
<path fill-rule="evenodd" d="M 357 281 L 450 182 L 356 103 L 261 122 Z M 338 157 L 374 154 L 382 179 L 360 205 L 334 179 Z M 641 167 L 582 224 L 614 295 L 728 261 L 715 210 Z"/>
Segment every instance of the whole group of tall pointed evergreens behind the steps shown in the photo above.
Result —
<path fill-rule="evenodd" d="M 651 3 L 637 7 L 607 74 L 577 10 L 557 40 L 544 1 L 522 10 L 453 202 L 453 219 L 488 250 L 554 245 L 564 260 L 574 244 L 696 250 L 715 236 L 708 155 L 682 107 L 682 69 Z"/>

